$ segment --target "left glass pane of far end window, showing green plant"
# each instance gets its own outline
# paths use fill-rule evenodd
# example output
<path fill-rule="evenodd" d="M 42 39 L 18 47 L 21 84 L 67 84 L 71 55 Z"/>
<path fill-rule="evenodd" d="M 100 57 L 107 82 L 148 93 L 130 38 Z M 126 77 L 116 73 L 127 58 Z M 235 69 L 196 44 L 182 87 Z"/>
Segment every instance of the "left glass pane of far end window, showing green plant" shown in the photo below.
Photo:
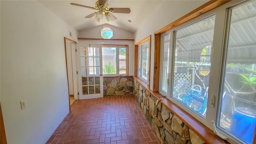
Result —
<path fill-rule="evenodd" d="M 116 48 L 102 48 L 103 74 L 116 74 Z"/>

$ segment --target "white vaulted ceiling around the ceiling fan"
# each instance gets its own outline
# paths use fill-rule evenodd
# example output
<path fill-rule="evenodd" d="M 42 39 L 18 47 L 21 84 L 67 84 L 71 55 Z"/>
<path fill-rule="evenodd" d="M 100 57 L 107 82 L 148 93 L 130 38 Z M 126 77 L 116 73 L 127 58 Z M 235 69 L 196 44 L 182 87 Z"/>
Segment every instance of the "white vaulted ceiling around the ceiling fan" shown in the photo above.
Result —
<path fill-rule="evenodd" d="M 85 16 L 97 12 L 90 8 L 74 6 L 70 3 L 82 4 L 95 7 L 96 0 L 38 0 L 46 8 L 54 12 L 62 20 L 75 28 L 78 32 L 87 30 L 99 25 L 110 24 L 128 32 L 134 33 L 140 24 L 154 11 L 162 0 L 109 0 L 110 8 L 130 8 L 130 14 L 112 13 L 117 17 L 114 21 L 107 21 L 104 17 L 100 22 L 96 22 L 94 17 L 84 18 Z M 129 23 L 128 19 L 133 22 Z"/>

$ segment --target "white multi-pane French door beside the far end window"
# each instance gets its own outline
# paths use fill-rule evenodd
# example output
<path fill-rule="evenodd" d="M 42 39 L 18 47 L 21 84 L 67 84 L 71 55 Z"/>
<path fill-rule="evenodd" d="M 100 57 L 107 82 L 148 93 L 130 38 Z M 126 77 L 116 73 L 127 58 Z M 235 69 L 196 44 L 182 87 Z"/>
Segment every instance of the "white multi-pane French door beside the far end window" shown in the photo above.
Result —
<path fill-rule="evenodd" d="M 79 99 L 103 97 L 102 45 L 86 44 L 77 54 Z"/>

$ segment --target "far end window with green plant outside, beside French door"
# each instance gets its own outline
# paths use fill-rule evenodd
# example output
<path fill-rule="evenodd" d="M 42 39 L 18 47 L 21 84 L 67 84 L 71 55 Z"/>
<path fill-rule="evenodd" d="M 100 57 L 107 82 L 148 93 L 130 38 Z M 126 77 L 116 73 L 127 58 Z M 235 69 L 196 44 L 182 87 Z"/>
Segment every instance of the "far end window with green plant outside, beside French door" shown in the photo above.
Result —
<path fill-rule="evenodd" d="M 127 46 L 102 46 L 104 75 L 127 75 Z"/>

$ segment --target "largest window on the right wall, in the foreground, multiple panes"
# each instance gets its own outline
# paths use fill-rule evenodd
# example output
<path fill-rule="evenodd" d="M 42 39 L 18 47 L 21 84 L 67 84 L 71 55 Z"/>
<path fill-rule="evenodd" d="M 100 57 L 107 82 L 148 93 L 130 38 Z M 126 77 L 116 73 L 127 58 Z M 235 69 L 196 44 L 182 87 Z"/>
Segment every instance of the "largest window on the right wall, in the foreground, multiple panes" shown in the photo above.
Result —
<path fill-rule="evenodd" d="M 159 91 L 230 143 L 255 136 L 255 24 L 256 1 L 231 1 L 161 34 Z"/>

